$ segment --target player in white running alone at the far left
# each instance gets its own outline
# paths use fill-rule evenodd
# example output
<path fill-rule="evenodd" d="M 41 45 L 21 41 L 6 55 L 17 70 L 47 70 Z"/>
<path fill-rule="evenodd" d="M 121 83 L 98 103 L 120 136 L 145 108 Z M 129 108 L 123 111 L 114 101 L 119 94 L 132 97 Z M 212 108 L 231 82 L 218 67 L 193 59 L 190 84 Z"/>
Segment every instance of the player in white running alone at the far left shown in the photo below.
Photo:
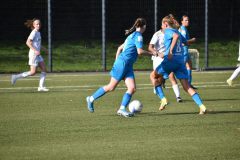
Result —
<path fill-rule="evenodd" d="M 30 66 L 30 71 L 23 72 L 17 75 L 12 75 L 11 83 L 12 85 L 15 85 L 18 79 L 35 75 L 37 67 L 40 67 L 42 72 L 40 74 L 38 91 L 47 92 L 49 91 L 49 89 L 44 86 L 46 78 L 46 66 L 41 56 L 41 49 L 45 50 L 46 53 L 47 49 L 41 45 L 41 34 L 39 32 L 41 28 L 41 22 L 39 19 L 34 18 L 33 20 L 27 20 L 24 24 L 27 28 L 32 29 L 32 32 L 30 33 L 26 42 L 27 46 L 29 47 L 28 64 Z"/>

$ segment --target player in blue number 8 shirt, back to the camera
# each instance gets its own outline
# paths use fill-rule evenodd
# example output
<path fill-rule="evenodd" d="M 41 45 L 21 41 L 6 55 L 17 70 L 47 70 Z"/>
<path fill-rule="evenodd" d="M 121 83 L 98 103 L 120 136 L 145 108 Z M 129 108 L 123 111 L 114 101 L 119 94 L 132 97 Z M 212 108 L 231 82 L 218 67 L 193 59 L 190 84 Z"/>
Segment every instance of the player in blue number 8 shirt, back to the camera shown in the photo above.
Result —
<path fill-rule="evenodd" d="M 164 46 L 165 52 L 163 54 L 163 61 L 154 71 L 152 77 L 153 85 L 157 95 L 161 99 L 159 110 L 165 109 L 167 99 L 163 93 L 161 83 L 163 77 L 167 77 L 171 72 L 180 80 L 183 89 L 192 96 L 194 102 L 200 108 L 199 114 L 206 113 L 206 107 L 203 105 L 199 94 L 189 85 L 188 73 L 184 63 L 183 46 L 182 43 L 187 43 L 186 39 L 181 36 L 176 26 L 175 19 L 168 15 L 162 20 L 162 28 L 164 29 Z"/>

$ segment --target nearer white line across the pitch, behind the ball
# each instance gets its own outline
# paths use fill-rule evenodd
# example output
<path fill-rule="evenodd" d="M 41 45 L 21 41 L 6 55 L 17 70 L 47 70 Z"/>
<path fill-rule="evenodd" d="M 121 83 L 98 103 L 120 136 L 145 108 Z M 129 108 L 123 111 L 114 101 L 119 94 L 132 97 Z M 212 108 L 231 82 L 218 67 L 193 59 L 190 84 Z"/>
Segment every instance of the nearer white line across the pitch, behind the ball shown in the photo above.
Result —
<path fill-rule="evenodd" d="M 197 84 L 197 83 L 195 83 Z M 225 82 L 205 82 L 205 83 L 198 83 L 199 85 L 195 85 L 195 87 L 198 88 L 214 88 L 214 87 L 228 87 Z M 234 86 L 240 86 L 240 84 L 234 84 Z M 101 87 L 101 85 L 81 85 L 81 86 L 48 86 L 50 89 L 71 89 L 71 90 L 96 90 L 98 87 Z M 172 88 L 170 86 L 167 86 L 166 88 Z M 180 88 L 182 88 L 180 86 Z M 6 91 L 6 90 L 26 90 L 26 89 L 37 89 L 37 87 L 11 87 L 11 88 L 0 88 L 0 91 Z M 124 85 L 119 85 L 117 90 L 126 89 Z M 137 84 L 137 89 L 153 89 L 151 84 Z"/>

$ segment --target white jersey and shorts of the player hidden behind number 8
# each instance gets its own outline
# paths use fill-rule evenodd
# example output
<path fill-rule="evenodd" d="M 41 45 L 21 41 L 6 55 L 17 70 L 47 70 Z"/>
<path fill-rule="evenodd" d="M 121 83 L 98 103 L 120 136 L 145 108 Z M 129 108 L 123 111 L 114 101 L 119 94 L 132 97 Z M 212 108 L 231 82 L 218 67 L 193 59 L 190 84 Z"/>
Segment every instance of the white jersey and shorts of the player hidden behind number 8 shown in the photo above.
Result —
<path fill-rule="evenodd" d="M 154 33 L 150 44 L 154 45 L 154 49 L 157 50 L 159 53 L 165 52 L 164 46 L 164 33 L 160 30 Z M 163 58 L 152 56 L 153 60 L 153 69 L 155 70 L 163 61 Z"/>

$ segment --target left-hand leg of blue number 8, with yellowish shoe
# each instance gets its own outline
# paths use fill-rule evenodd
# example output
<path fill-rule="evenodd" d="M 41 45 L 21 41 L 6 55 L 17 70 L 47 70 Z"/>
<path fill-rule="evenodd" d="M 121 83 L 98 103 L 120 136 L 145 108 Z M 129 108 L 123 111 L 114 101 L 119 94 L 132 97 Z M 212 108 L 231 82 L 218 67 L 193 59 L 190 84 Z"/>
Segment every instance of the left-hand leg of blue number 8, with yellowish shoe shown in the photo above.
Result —
<path fill-rule="evenodd" d="M 158 74 L 156 71 L 152 71 L 150 74 L 150 80 L 153 86 L 155 87 L 157 96 L 161 99 L 161 105 L 159 107 L 159 110 L 163 110 L 168 104 L 161 86 L 163 81 L 163 76 L 161 74 Z"/>

